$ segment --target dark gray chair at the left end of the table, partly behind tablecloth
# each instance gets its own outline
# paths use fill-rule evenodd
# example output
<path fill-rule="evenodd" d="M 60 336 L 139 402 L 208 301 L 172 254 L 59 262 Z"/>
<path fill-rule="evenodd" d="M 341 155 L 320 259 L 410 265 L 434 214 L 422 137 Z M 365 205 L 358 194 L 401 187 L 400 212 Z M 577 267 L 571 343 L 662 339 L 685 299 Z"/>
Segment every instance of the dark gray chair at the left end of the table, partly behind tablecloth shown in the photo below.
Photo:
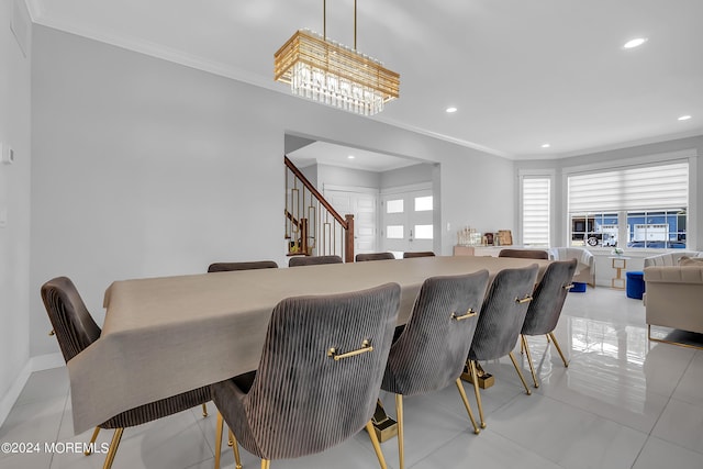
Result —
<path fill-rule="evenodd" d="M 66 362 L 100 338 L 101 330 L 70 279 L 54 278 L 42 286 L 41 293 L 54 327 L 52 334 L 56 335 Z M 122 412 L 96 427 L 89 447 L 96 443 L 100 428 L 115 428 L 103 466 L 103 469 L 110 469 L 125 427 L 163 418 L 208 401 L 210 401 L 210 387 L 205 386 Z M 89 450 L 86 451 L 86 456 L 89 454 Z"/>

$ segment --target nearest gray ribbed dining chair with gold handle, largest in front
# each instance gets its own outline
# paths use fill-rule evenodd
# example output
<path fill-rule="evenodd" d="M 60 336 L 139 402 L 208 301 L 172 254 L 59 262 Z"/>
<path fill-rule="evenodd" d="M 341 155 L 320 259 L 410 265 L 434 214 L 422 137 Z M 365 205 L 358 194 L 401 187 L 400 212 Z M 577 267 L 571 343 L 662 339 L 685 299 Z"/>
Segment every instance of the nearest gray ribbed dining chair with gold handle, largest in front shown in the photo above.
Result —
<path fill-rule="evenodd" d="M 321 453 L 365 426 L 386 468 L 370 420 L 399 305 L 398 283 L 278 303 L 258 369 L 211 387 L 219 410 L 215 468 L 223 418 L 263 469 L 272 459 Z M 236 450 L 235 461 L 241 467 Z"/>

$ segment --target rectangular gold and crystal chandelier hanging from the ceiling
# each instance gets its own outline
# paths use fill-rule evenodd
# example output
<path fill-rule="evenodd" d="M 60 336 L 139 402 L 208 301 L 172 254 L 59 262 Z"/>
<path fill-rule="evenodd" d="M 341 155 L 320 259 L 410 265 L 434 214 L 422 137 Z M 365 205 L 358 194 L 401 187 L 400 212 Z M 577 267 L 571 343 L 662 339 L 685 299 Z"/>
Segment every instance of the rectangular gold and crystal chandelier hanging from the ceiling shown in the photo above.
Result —
<path fill-rule="evenodd" d="M 274 64 L 274 79 L 290 83 L 293 94 L 357 114 L 373 115 L 399 97 L 399 74 L 310 30 L 295 32 Z"/>

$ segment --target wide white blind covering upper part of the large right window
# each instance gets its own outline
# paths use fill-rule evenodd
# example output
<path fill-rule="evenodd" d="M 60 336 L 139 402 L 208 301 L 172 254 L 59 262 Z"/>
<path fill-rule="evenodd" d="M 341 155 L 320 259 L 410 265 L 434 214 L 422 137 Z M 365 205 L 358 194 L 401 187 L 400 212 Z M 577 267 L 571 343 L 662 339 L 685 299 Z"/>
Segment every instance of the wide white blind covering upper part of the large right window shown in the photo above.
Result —
<path fill-rule="evenodd" d="M 688 206 L 689 164 L 622 168 L 568 177 L 569 213 Z"/>

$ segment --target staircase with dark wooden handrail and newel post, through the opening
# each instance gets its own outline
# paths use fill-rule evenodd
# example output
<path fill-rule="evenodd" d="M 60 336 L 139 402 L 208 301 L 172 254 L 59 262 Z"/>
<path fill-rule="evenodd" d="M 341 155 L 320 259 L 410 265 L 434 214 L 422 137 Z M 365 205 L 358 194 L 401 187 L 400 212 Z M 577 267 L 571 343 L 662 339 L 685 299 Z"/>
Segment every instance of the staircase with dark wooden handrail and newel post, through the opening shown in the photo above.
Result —
<path fill-rule="evenodd" d="M 287 156 L 283 161 L 288 255 L 336 255 L 353 263 L 354 215 L 337 213 Z"/>

